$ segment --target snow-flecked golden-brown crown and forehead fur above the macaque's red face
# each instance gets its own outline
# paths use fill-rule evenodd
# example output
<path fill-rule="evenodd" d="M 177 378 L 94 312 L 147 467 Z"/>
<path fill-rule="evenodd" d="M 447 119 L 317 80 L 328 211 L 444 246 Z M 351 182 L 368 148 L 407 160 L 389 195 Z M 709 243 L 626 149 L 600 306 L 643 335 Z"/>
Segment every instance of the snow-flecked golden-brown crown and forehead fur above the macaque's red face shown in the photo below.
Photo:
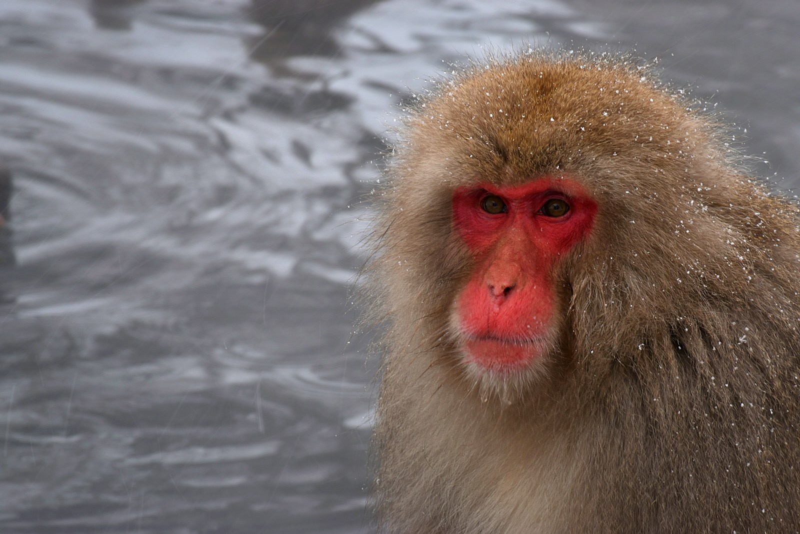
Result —
<path fill-rule="evenodd" d="M 410 121 L 400 155 L 465 181 L 509 183 L 559 171 L 670 171 L 710 151 L 720 161 L 713 138 L 681 92 L 647 70 L 534 56 L 442 84 Z"/>

